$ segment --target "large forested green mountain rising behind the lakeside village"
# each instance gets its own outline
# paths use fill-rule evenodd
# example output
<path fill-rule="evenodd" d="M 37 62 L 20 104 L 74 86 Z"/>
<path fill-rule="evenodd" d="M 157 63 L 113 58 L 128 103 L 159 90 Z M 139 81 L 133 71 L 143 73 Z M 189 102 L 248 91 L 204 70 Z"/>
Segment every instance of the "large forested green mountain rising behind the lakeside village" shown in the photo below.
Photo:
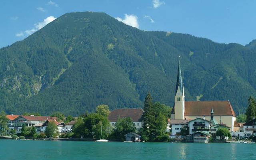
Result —
<path fill-rule="evenodd" d="M 186 100 L 230 100 L 238 113 L 256 96 L 252 48 L 73 12 L 0 49 L 0 110 L 80 115 L 99 104 L 136 108 L 149 91 L 172 106 L 178 56 Z"/>

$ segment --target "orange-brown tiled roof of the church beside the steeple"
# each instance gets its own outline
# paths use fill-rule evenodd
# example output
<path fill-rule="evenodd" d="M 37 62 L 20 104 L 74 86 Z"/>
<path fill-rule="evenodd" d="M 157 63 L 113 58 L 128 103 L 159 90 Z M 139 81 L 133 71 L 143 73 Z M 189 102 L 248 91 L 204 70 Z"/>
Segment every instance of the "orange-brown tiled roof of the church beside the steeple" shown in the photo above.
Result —
<path fill-rule="evenodd" d="M 214 116 L 236 116 L 229 101 L 185 101 L 184 116 L 211 116 L 212 108 Z"/>

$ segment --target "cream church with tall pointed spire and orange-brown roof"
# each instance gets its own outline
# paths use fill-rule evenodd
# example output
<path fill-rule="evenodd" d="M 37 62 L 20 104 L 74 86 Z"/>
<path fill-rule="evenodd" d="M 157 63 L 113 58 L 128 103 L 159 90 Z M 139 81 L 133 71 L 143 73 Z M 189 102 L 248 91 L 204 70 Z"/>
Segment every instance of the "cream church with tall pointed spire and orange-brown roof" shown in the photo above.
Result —
<path fill-rule="evenodd" d="M 178 62 L 178 75 L 175 88 L 175 103 L 171 112 L 172 120 L 194 120 L 202 118 L 211 120 L 211 111 L 214 110 L 214 119 L 218 124 L 230 127 L 234 131 L 236 114 L 228 100 L 226 101 L 185 101 L 184 84 Z"/>

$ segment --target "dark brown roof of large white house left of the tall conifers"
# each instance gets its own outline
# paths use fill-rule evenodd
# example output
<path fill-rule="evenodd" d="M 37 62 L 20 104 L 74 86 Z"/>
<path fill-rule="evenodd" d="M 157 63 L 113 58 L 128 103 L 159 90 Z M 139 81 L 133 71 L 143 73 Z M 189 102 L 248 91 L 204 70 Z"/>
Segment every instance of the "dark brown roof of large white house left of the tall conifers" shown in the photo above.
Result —
<path fill-rule="evenodd" d="M 118 117 L 120 118 L 132 118 L 133 122 L 142 121 L 142 115 L 144 110 L 142 108 L 125 108 L 125 109 L 115 109 L 108 115 L 108 120 L 110 122 L 116 122 Z"/>

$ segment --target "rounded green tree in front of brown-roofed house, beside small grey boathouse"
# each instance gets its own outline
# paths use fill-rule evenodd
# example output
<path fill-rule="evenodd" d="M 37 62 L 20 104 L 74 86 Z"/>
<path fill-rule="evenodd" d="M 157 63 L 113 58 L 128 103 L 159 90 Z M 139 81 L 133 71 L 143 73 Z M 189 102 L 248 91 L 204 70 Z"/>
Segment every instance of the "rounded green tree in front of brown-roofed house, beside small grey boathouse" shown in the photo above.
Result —
<path fill-rule="evenodd" d="M 129 132 L 136 132 L 136 126 L 131 118 L 118 118 L 112 133 L 114 140 L 125 140 L 124 135 Z"/>

